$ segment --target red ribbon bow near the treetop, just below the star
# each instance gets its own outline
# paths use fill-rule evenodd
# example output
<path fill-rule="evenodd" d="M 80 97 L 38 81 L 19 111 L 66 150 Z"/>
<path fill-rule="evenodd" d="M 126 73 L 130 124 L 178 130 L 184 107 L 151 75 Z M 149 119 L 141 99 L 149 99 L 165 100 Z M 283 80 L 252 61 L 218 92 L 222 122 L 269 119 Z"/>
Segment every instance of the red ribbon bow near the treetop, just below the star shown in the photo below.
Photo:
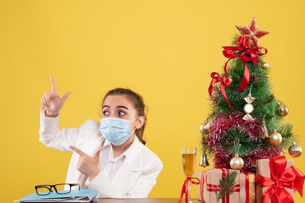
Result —
<path fill-rule="evenodd" d="M 257 55 L 264 55 L 266 54 L 268 51 L 264 48 L 264 47 L 255 47 L 252 49 L 250 44 L 247 44 L 247 40 L 245 39 L 245 37 L 239 36 L 236 44 L 239 44 L 239 46 L 237 47 L 223 47 L 225 50 L 223 51 L 223 54 L 225 57 L 229 58 L 229 60 L 231 60 L 232 58 L 239 58 L 243 61 L 243 63 L 245 64 L 245 71 L 244 71 L 244 75 L 243 75 L 243 79 L 242 82 L 238 88 L 238 91 L 241 91 L 243 89 L 245 89 L 249 83 L 249 78 L 250 78 L 250 72 L 247 66 L 247 61 L 253 61 L 253 63 L 256 66 L 256 63 L 258 62 L 258 58 Z M 260 49 L 264 49 L 265 53 L 262 53 L 261 51 L 259 51 Z M 240 51 L 240 50 L 246 50 L 240 54 L 236 54 L 235 51 Z M 250 56 L 246 56 L 246 54 L 249 54 Z M 228 75 L 229 74 L 227 72 L 227 64 L 229 62 L 229 60 L 227 61 L 227 63 L 225 64 L 225 68 L 224 71 L 225 73 Z"/>

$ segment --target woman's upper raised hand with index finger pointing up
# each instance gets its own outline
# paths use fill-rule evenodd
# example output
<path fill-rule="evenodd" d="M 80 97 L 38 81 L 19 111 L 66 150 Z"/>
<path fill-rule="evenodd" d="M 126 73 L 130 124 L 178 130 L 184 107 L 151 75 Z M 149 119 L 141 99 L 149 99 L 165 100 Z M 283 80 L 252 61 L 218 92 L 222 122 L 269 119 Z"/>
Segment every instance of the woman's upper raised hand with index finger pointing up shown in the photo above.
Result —
<path fill-rule="evenodd" d="M 50 76 L 50 79 L 52 85 L 52 92 L 46 92 L 44 96 L 40 98 L 40 101 L 42 105 L 44 105 L 46 108 L 46 117 L 57 117 L 57 115 L 59 114 L 59 110 L 61 109 L 62 105 L 64 104 L 68 96 L 71 94 L 71 92 L 67 92 L 62 98 L 60 98 L 52 75 Z"/>

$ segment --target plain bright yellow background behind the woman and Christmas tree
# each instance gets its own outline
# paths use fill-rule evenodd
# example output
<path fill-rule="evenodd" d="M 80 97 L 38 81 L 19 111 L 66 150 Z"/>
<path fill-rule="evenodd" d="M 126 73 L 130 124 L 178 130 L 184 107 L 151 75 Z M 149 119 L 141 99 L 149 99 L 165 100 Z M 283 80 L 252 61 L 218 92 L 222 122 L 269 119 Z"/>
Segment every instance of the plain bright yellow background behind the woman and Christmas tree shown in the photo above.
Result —
<path fill-rule="evenodd" d="M 272 88 L 304 142 L 304 7 L 303 0 L 1 0 L 1 202 L 65 181 L 71 153 L 38 141 L 39 99 L 51 91 L 50 75 L 61 96 L 72 92 L 60 127 L 99 120 L 98 104 L 114 87 L 139 92 L 150 108 L 147 146 L 164 164 L 149 197 L 179 198 L 180 148 L 199 147 L 210 73 L 226 62 L 222 46 L 235 25 L 253 17 L 270 32 L 260 45 Z M 305 172 L 304 155 L 293 160 Z"/>

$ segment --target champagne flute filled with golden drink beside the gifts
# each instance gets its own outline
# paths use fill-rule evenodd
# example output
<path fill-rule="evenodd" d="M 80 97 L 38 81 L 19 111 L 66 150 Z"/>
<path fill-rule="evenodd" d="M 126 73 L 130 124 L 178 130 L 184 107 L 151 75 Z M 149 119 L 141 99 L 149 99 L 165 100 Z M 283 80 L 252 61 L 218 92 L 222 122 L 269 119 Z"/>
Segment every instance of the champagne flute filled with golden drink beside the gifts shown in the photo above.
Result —
<path fill-rule="evenodd" d="M 196 170 L 196 152 L 197 148 L 181 148 L 182 169 L 187 177 L 192 177 Z M 187 197 L 186 197 L 187 198 Z M 191 202 L 191 179 L 188 183 L 188 203 Z"/>

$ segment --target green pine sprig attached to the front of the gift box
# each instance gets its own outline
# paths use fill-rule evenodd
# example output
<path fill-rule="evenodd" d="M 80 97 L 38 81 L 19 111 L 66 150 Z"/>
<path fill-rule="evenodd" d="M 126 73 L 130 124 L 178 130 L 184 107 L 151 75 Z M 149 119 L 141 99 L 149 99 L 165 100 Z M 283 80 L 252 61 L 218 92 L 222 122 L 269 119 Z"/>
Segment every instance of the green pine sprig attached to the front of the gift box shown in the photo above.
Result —
<path fill-rule="evenodd" d="M 226 195 L 233 193 L 233 186 L 236 184 L 237 170 L 228 172 L 227 176 L 222 176 L 219 180 L 220 190 L 215 190 L 217 202 Z"/>

